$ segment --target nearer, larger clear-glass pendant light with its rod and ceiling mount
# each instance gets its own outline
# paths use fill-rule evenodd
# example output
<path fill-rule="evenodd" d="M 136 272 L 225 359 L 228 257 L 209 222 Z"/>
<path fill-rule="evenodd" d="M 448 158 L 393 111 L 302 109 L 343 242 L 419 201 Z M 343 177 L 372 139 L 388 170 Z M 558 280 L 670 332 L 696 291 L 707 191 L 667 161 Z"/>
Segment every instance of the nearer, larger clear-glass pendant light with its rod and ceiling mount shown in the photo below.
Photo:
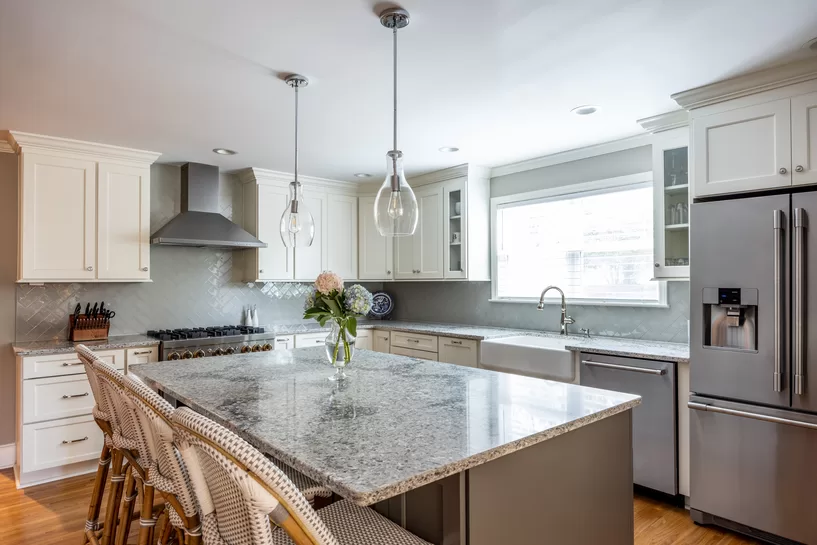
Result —
<path fill-rule="evenodd" d="M 406 237 L 417 229 L 417 197 L 403 172 L 403 152 L 397 149 L 397 30 L 409 23 L 409 14 L 400 8 L 389 8 L 380 14 L 380 24 L 394 36 L 394 146 L 386 154 L 386 179 L 374 201 L 374 221 L 384 237 Z"/>

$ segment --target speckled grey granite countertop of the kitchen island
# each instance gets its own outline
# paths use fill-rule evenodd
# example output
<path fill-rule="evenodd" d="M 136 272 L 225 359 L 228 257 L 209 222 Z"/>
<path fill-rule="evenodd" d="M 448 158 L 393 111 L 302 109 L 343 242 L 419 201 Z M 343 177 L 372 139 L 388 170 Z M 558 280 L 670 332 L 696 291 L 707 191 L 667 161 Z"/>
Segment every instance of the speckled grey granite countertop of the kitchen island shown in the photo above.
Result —
<path fill-rule="evenodd" d="M 133 371 L 341 496 L 370 505 L 637 406 L 638 396 L 361 350 L 327 380 L 323 347 Z"/>

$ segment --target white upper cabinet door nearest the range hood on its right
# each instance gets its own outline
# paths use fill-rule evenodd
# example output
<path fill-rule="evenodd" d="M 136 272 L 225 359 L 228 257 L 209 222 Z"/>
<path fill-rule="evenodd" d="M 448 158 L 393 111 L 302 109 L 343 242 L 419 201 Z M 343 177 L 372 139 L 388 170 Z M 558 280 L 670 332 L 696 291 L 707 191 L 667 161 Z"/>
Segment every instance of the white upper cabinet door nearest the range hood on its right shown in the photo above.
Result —
<path fill-rule="evenodd" d="M 258 280 L 292 280 L 295 262 L 292 248 L 281 241 L 281 215 L 289 202 L 286 188 L 258 186 L 258 238 L 267 243 L 258 251 Z"/>

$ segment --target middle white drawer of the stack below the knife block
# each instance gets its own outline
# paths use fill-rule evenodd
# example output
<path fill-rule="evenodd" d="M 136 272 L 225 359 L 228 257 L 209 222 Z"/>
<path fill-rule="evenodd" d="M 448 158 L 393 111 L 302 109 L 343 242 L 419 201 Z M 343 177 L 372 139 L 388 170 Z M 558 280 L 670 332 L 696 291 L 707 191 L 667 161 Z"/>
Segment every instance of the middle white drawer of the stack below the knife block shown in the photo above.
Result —
<path fill-rule="evenodd" d="M 83 375 L 23 381 L 23 423 L 91 414 L 94 396 Z"/>

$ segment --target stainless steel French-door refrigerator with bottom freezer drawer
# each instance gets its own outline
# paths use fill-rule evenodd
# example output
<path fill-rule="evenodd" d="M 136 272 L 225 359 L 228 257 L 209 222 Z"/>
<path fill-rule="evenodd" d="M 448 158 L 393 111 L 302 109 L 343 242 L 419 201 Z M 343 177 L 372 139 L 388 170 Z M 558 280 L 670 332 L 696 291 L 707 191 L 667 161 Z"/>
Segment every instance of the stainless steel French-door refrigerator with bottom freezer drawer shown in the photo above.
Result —
<path fill-rule="evenodd" d="M 817 192 L 690 225 L 690 513 L 817 544 Z"/>

